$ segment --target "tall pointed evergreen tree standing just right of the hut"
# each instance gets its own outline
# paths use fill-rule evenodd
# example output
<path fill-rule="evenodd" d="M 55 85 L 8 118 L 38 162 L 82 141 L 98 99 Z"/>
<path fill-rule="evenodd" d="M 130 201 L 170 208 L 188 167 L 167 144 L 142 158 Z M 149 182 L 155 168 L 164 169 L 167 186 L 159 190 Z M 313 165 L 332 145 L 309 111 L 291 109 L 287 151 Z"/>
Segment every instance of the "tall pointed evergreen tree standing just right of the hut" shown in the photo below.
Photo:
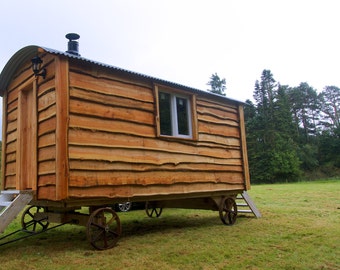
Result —
<path fill-rule="evenodd" d="M 264 70 L 255 83 L 257 103 L 247 101 L 247 146 L 254 182 L 292 181 L 300 175 L 287 89 L 276 84 L 270 70 Z"/>

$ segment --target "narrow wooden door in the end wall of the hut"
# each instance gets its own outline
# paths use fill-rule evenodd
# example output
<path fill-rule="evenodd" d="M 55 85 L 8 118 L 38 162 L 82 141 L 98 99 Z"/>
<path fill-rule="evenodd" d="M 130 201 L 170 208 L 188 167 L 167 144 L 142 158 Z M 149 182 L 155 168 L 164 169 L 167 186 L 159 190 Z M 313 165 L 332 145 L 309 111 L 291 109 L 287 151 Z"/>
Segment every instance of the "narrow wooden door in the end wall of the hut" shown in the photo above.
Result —
<path fill-rule="evenodd" d="M 18 96 L 17 181 L 19 190 L 36 190 L 37 108 L 35 81 L 27 83 Z"/>

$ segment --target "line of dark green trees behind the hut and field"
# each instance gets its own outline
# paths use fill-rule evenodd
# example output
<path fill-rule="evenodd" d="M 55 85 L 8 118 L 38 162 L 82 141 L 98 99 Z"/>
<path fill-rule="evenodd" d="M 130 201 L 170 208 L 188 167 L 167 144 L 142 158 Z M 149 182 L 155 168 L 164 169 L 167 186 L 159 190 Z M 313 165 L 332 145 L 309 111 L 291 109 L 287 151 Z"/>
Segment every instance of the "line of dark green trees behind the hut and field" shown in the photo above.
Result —
<path fill-rule="evenodd" d="M 217 85 L 214 93 L 225 95 L 223 80 L 215 73 L 208 85 Z M 221 81 L 224 87 L 218 88 Z M 270 70 L 263 70 L 253 98 L 245 104 L 253 183 L 340 175 L 340 88 L 326 86 L 317 93 L 306 82 L 281 85 Z"/>

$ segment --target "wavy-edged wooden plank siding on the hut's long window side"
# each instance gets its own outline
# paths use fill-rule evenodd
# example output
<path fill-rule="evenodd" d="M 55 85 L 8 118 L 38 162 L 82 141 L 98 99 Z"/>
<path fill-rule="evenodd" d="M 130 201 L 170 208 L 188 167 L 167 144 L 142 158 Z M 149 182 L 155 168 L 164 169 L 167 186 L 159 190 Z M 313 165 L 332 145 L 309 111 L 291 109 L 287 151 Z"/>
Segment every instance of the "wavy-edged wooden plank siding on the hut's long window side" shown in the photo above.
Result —
<path fill-rule="evenodd" d="M 77 66 L 69 78 L 70 197 L 244 188 L 237 105 L 197 97 L 198 140 L 161 138 L 153 84 Z"/>

